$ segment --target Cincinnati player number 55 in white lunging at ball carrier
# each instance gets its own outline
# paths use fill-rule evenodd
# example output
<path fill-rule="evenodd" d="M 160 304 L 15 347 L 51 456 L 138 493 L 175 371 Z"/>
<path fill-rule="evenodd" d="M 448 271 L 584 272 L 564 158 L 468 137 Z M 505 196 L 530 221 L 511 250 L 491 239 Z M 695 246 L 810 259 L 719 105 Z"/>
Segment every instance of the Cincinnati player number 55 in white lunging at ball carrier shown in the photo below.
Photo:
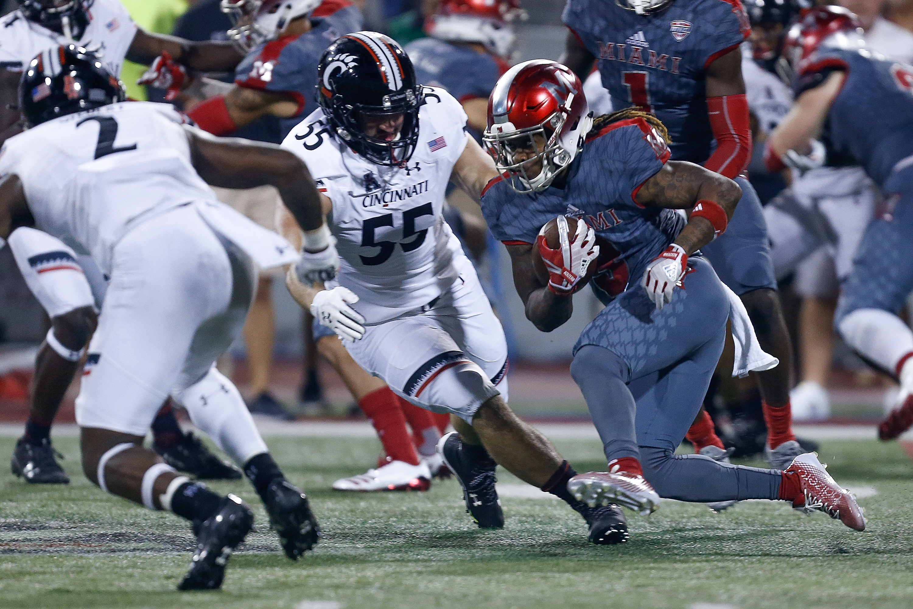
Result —
<path fill-rule="evenodd" d="M 573 499 L 570 465 L 507 404 L 504 333 L 442 215 L 448 181 L 478 200 L 497 175 L 464 131 L 459 102 L 418 85 L 403 48 L 374 32 L 334 42 L 318 75 L 320 109 L 282 145 L 325 191 L 320 200 L 332 213 L 341 270 L 314 287 L 289 274 L 292 295 L 395 394 L 453 415 L 456 432 L 438 447 L 479 527 L 504 525 L 500 464 L 571 504 L 593 540 L 621 541 L 621 510 Z M 326 257 L 312 252 L 326 251 L 330 239 L 329 230 L 306 235 L 300 264 L 325 266 Z"/>

